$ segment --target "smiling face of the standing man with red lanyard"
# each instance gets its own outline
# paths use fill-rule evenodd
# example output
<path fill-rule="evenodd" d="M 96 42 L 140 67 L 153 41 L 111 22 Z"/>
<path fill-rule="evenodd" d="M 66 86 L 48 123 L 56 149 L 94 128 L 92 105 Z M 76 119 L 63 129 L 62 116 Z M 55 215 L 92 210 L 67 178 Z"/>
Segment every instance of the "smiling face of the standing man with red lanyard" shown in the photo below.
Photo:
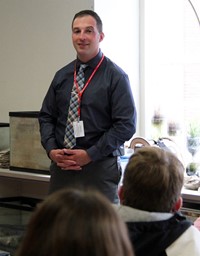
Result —
<path fill-rule="evenodd" d="M 87 62 L 99 52 L 99 43 L 104 34 L 99 33 L 92 16 L 77 17 L 72 24 L 72 41 L 78 58 Z"/>

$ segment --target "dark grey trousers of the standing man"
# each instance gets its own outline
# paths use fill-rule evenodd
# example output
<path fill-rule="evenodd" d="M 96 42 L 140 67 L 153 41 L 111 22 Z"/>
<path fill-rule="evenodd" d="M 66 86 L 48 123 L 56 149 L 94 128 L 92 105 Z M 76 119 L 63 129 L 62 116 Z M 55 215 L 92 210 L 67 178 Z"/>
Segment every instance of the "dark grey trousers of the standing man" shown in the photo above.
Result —
<path fill-rule="evenodd" d="M 112 203 L 118 202 L 118 184 L 121 166 L 117 157 L 106 157 L 82 167 L 81 171 L 61 170 L 50 166 L 50 190 L 53 193 L 65 187 L 93 188 L 102 192 Z"/>

